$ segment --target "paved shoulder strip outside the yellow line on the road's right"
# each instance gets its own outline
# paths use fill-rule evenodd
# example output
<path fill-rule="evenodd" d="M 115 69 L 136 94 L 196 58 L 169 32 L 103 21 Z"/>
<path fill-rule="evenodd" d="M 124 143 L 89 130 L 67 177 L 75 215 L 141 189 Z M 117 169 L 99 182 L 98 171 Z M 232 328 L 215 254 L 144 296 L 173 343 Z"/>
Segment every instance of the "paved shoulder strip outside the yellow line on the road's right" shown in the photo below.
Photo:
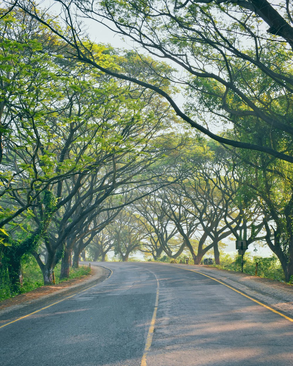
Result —
<path fill-rule="evenodd" d="M 279 281 L 248 275 L 247 273 L 222 270 L 203 265 L 175 264 L 214 277 L 223 283 L 251 296 L 253 299 L 293 318 L 293 286 Z"/>

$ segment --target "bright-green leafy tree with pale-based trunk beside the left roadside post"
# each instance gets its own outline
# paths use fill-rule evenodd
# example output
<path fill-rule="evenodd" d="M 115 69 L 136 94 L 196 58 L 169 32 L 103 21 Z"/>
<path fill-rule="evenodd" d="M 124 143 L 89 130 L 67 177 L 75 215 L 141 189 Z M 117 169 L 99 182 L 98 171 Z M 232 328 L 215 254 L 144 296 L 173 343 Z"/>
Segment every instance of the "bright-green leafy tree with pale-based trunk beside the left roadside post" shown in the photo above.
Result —
<path fill-rule="evenodd" d="M 101 52 L 101 50 L 104 50 L 104 48 L 96 48 L 97 52 Z M 47 55 L 44 55 L 44 59 L 48 59 Z M 46 66 L 48 68 L 48 61 Z M 20 222 L 23 220 L 23 214 L 22 216 L 20 214 L 25 212 L 28 205 L 29 207 L 32 206 L 31 218 L 34 221 L 37 232 L 42 227 L 45 214 L 40 198 L 42 190 L 49 188 L 58 197 L 54 209 L 55 215 L 58 215 L 60 209 L 75 197 L 85 177 L 93 171 L 97 171 L 97 166 L 101 165 L 104 160 L 113 160 L 112 152 L 103 155 L 101 150 L 93 148 L 94 144 L 101 146 L 109 138 L 105 137 L 103 139 L 107 129 L 107 117 L 105 118 L 103 115 L 105 109 L 102 110 L 100 105 L 97 104 L 97 96 L 99 97 L 100 104 L 108 101 L 107 97 L 105 97 L 106 94 L 109 96 L 111 87 L 108 80 L 103 81 L 103 78 L 100 78 L 98 85 L 93 75 L 91 75 L 91 79 L 89 78 L 91 73 L 89 69 L 78 68 L 76 64 L 71 65 L 70 73 L 68 73 L 68 65 L 65 65 L 66 72 L 63 72 L 62 69 L 56 66 L 56 63 L 52 62 L 50 66 L 55 66 L 59 71 L 55 89 L 52 90 L 53 87 L 50 86 L 50 82 L 54 81 L 54 79 L 48 77 L 46 80 L 48 85 L 45 85 L 44 79 L 41 81 L 36 76 L 35 80 L 38 83 L 43 82 L 42 89 L 44 90 L 47 87 L 45 90 L 48 92 L 42 95 L 43 99 L 40 100 L 40 95 L 35 95 L 33 92 L 30 96 L 27 94 L 20 96 L 26 98 L 24 103 L 28 102 L 29 97 L 35 100 L 35 104 L 30 103 L 30 107 L 35 109 L 30 114 L 25 110 L 25 115 L 29 114 L 25 121 L 23 121 L 21 115 L 16 115 L 18 123 L 15 128 L 16 137 L 19 137 L 19 145 L 22 148 L 15 147 L 16 138 L 14 138 L 12 146 L 8 143 L 7 155 L 5 156 L 5 161 L 3 160 L 4 164 L 11 162 L 14 171 L 19 172 L 17 176 L 14 174 L 14 182 L 11 182 L 11 180 L 7 182 L 5 176 L 1 177 L 4 183 L 7 182 L 6 195 L 3 196 L 3 201 L 6 201 L 5 206 L 9 207 L 11 205 L 10 201 L 13 199 L 19 207 L 9 217 L 9 225 L 12 226 L 12 231 L 15 234 L 17 234 L 17 229 L 15 230 L 15 228 L 21 227 Z M 45 73 L 46 71 L 42 72 Z M 50 75 L 51 70 L 49 70 Z M 96 74 L 94 76 L 97 77 Z M 103 83 L 106 83 L 108 90 L 105 90 Z M 20 97 L 19 100 L 21 102 L 22 99 Z M 108 104 L 109 110 L 113 109 L 113 106 L 111 107 L 111 104 Z M 100 130 L 101 126 L 97 123 L 97 119 L 105 120 L 104 130 Z M 62 128 L 60 129 L 60 127 Z M 99 136 L 97 136 L 97 131 L 100 131 Z M 115 134 L 110 136 L 112 145 L 114 137 Z M 23 140 L 26 141 L 25 144 Z M 68 187 L 70 180 L 74 184 L 71 185 L 70 192 L 66 197 L 63 197 L 62 191 L 64 186 L 67 185 Z M 19 189 L 17 184 L 21 189 Z M 23 187 L 24 184 L 25 187 Z M 12 220 L 14 218 L 15 220 Z M 56 222 L 56 219 L 54 218 L 53 221 Z M 3 222 L 7 223 L 8 219 L 3 220 Z M 31 222 L 29 225 L 31 225 Z M 45 284 L 52 283 L 53 268 L 61 257 L 64 256 L 63 243 L 56 243 L 56 238 L 53 239 L 53 243 L 50 243 L 49 236 L 43 232 L 47 250 L 49 248 L 46 263 L 43 264 L 37 253 L 35 253 Z M 35 248 L 30 248 L 30 251 L 34 250 Z"/>

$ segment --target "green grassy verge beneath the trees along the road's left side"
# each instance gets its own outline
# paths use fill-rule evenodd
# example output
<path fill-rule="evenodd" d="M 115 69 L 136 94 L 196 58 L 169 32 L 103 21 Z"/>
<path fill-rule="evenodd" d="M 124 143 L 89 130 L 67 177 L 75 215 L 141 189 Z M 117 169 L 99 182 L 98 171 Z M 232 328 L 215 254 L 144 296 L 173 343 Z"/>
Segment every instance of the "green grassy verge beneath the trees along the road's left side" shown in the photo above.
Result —
<path fill-rule="evenodd" d="M 61 264 L 59 263 L 54 269 L 56 284 L 90 274 L 90 268 L 88 266 L 80 266 L 76 269 L 70 268 L 69 278 L 60 281 L 60 269 Z M 18 294 L 25 294 L 26 292 L 32 291 L 35 288 L 44 286 L 42 272 L 34 258 L 29 258 L 29 260 L 27 260 L 27 262 L 22 265 L 22 273 L 23 286 L 20 288 L 19 292 L 11 291 L 7 281 L 8 279 L 3 284 L 0 284 L 0 301 L 12 298 Z"/>

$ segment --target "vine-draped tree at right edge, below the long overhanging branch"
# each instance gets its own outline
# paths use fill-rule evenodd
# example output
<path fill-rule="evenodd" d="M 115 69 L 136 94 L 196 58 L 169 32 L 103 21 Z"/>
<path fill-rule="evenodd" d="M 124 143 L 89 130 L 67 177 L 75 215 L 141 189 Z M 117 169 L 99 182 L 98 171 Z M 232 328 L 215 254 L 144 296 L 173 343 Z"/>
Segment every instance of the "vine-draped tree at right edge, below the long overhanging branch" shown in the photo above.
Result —
<path fill-rule="evenodd" d="M 242 156 L 238 165 L 243 175 L 243 190 L 239 195 L 244 203 L 245 212 L 257 205 L 262 212 L 265 229 L 264 238 L 268 247 L 281 262 L 285 279 L 293 276 L 292 245 L 292 167 L 290 164 L 265 155 Z M 254 231 L 254 228 L 253 228 Z"/>

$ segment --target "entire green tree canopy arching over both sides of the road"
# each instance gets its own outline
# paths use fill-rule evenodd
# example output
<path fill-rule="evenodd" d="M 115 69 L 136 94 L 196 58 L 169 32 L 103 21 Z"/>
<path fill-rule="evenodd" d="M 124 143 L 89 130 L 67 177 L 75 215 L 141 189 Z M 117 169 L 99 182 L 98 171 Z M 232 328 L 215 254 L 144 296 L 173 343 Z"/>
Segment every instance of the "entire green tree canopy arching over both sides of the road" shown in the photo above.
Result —
<path fill-rule="evenodd" d="M 91 17 L 89 4 L 73 1 L 67 11 L 82 6 L 84 17 Z M 221 239 L 232 233 L 250 244 L 262 233 L 292 280 L 293 72 L 286 44 L 293 46 L 292 40 L 272 27 L 267 38 L 263 22 L 273 19 L 251 16 L 239 1 L 96 4 L 121 34 L 187 73 L 180 79 L 175 68 L 146 54 L 90 42 L 74 29 L 78 8 L 64 28 L 17 4 L 0 19 L 0 280 L 8 268 L 15 282 L 22 255 L 31 251 L 43 275 L 61 257 L 67 270 L 73 246 L 78 258 L 94 231 L 107 225 L 109 246 L 123 260 L 135 250 L 155 259 L 164 250 L 161 261 L 167 261 L 187 246 L 196 263 L 213 248 L 218 263 Z M 289 7 L 287 12 L 293 22 Z M 286 42 L 276 42 L 277 36 Z M 172 99 L 175 79 L 185 86 L 184 111 Z M 170 105 L 191 126 L 234 148 L 223 153 L 199 134 L 197 143 L 176 135 Z M 213 134 L 204 127 L 210 123 L 224 132 Z M 159 186 L 162 176 L 168 188 Z M 146 194 L 140 184 L 153 184 L 157 192 Z M 115 194 L 119 199 L 111 201 Z M 139 194 L 140 208 L 124 209 L 119 222 L 116 213 Z M 111 248 L 96 239 L 94 256 L 104 258 Z M 50 251 L 45 265 L 39 243 Z M 253 272 L 253 261 L 245 260 L 245 270 Z M 229 258 L 223 263 L 229 265 Z M 273 261 L 261 261 L 261 267 L 277 271 Z"/>

